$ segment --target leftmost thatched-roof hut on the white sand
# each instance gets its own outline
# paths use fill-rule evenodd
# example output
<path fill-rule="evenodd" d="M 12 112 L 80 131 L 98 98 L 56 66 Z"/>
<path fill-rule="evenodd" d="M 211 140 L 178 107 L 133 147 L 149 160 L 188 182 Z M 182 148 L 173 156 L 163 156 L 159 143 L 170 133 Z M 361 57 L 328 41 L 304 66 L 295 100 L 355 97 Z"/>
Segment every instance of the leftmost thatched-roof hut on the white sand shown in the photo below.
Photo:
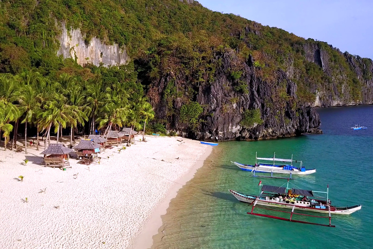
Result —
<path fill-rule="evenodd" d="M 57 164 L 59 167 L 65 167 L 70 165 L 68 162 L 68 153 L 73 151 L 73 149 L 69 149 L 65 147 L 64 144 L 60 143 L 49 145 L 49 147 L 40 154 L 44 155 L 45 166 Z"/>

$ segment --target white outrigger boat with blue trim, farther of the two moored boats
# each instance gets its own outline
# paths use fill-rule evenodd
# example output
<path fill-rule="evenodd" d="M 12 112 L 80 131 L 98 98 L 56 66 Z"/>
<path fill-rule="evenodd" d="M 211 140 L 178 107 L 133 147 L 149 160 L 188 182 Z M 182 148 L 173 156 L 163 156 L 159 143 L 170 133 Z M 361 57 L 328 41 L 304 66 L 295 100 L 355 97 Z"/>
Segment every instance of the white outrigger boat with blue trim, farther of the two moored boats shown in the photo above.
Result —
<path fill-rule="evenodd" d="M 268 162 L 259 162 L 258 160 L 264 161 L 271 161 L 272 163 Z M 294 174 L 294 175 L 309 175 L 316 172 L 316 169 L 305 169 L 302 165 L 302 161 L 300 160 L 293 160 L 293 155 L 291 155 L 291 159 L 281 159 L 276 158 L 275 154 L 273 154 L 273 158 L 258 158 L 255 153 L 255 164 L 242 164 L 236 161 L 231 161 L 235 165 L 237 165 L 240 169 L 245 171 L 251 171 L 256 173 L 280 173 L 280 174 Z M 278 163 L 283 162 L 283 163 Z M 293 162 L 299 163 L 300 165 L 293 166 Z M 290 164 L 289 164 L 290 163 Z"/>

